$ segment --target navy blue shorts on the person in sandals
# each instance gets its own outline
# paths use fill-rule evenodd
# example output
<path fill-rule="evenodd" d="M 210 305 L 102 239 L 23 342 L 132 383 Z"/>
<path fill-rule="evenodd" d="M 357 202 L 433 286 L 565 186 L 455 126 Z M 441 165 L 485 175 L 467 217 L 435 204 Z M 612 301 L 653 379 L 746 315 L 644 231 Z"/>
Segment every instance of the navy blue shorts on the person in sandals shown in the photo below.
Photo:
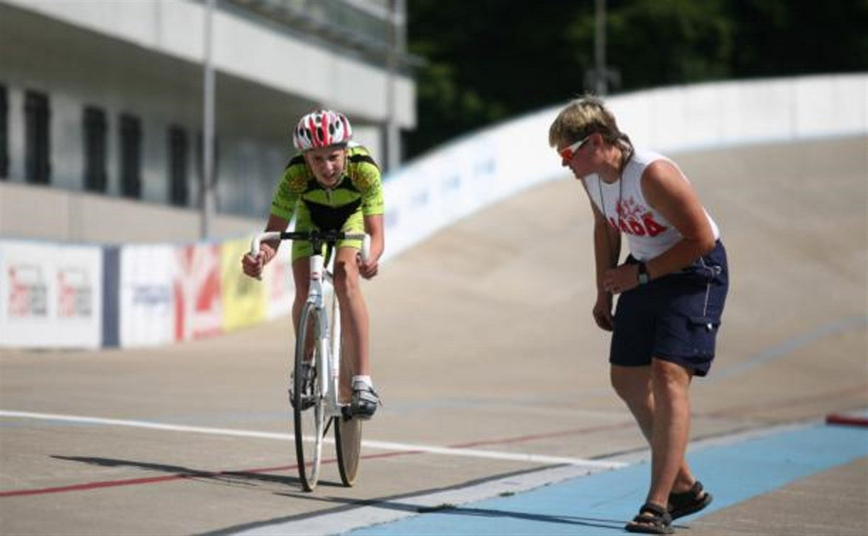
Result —
<path fill-rule="evenodd" d="M 627 262 L 637 261 L 631 256 Z M 728 289 L 727 251 L 718 240 L 693 265 L 624 292 L 615 308 L 609 363 L 641 367 L 653 356 L 706 376 Z"/>

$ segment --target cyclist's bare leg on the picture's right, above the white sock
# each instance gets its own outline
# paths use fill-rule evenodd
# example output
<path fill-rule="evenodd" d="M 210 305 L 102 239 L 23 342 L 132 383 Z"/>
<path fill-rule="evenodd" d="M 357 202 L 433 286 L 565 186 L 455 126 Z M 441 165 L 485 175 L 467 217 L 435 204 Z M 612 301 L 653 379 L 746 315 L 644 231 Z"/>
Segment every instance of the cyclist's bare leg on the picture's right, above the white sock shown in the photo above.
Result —
<path fill-rule="evenodd" d="M 340 329 L 343 334 L 343 359 L 350 364 L 352 376 L 370 376 L 371 366 L 368 361 L 368 310 L 365 297 L 362 296 L 359 285 L 358 250 L 352 247 L 338 249 L 334 263 L 334 287 L 338 294 L 341 318 Z M 342 385 L 349 389 L 349 380 Z M 342 389 L 342 390 L 343 390 Z M 342 398 L 348 393 L 342 393 Z"/>

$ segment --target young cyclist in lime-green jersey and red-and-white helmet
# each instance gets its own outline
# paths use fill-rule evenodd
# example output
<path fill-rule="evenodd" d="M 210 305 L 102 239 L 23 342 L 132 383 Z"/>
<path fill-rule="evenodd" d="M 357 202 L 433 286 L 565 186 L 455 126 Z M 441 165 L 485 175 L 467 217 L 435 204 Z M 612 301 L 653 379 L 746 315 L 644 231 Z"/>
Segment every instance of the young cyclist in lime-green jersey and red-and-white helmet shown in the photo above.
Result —
<path fill-rule="evenodd" d="M 352 415 L 371 418 L 379 397 L 371 381 L 368 312 L 358 277 L 373 278 L 383 254 L 383 186 L 377 164 L 365 147 L 351 142 L 352 127 L 344 114 L 326 109 L 306 114 L 293 131 L 300 154 L 286 165 L 274 192 L 266 232 L 285 231 L 293 214 L 295 230 L 371 235 L 371 255 L 362 262 L 361 241 L 341 240 L 336 245 L 334 286 L 341 309 L 345 358 L 352 365 Z M 260 253 L 245 255 L 241 265 L 248 276 L 259 278 L 264 265 L 277 254 L 279 240 L 263 242 Z M 299 316 L 310 284 L 309 242 L 293 242 L 295 301 L 293 324 L 298 336 Z"/>

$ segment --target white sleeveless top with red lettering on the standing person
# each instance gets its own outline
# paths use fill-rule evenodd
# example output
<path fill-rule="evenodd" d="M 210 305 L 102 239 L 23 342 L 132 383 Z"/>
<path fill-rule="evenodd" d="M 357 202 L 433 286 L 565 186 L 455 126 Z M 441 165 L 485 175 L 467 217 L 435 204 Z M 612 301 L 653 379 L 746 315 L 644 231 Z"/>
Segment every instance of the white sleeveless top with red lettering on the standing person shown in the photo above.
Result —
<path fill-rule="evenodd" d="M 642 261 L 657 257 L 681 240 L 681 232 L 663 218 L 660 212 L 648 205 L 642 195 L 642 173 L 654 160 L 666 160 L 678 168 L 662 154 L 637 150 L 624 167 L 621 179 L 613 184 L 603 182 L 596 173 L 584 178 L 585 188 L 595 206 L 606 217 L 609 225 L 617 227 L 621 234 L 627 235 L 630 254 Z M 681 178 L 687 180 L 684 173 L 681 173 Z M 702 210 L 714 233 L 714 239 L 719 239 L 720 230 L 717 224 L 705 208 Z"/>

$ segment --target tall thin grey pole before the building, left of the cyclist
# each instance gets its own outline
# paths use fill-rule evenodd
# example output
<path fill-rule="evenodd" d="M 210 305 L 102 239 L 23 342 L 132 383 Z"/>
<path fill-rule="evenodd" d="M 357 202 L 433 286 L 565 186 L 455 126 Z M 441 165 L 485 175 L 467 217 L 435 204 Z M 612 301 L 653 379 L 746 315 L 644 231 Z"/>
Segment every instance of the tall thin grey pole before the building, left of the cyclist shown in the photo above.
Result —
<path fill-rule="evenodd" d="M 211 25 L 214 0 L 205 3 L 205 74 L 202 91 L 202 239 L 211 238 L 214 219 L 214 65 L 211 61 Z"/>

